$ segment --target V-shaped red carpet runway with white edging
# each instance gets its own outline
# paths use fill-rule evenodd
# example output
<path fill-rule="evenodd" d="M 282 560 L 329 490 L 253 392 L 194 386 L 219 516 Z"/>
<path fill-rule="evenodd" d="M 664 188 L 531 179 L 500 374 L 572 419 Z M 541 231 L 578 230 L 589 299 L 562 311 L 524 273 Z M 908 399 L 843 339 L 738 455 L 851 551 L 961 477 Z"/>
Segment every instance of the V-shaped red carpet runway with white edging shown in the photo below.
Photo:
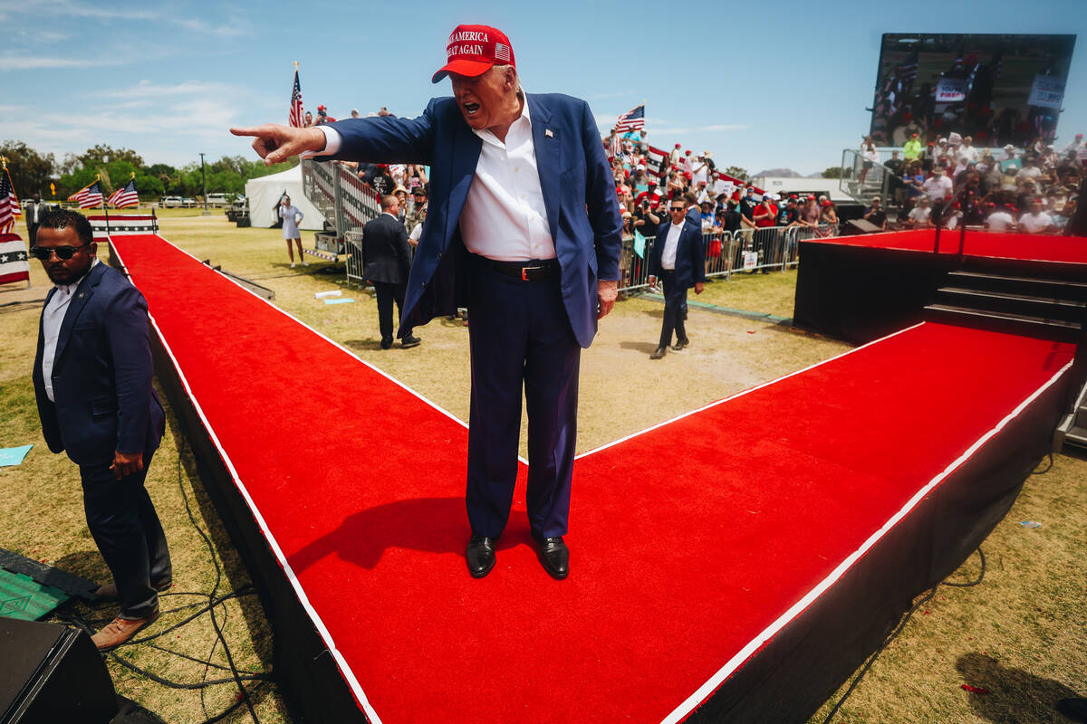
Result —
<path fill-rule="evenodd" d="M 1074 353 L 923 323 L 585 454 L 562 583 L 529 546 L 522 470 L 475 581 L 463 423 L 164 239 L 112 244 L 295 595 L 388 724 L 684 720 Z"/>

